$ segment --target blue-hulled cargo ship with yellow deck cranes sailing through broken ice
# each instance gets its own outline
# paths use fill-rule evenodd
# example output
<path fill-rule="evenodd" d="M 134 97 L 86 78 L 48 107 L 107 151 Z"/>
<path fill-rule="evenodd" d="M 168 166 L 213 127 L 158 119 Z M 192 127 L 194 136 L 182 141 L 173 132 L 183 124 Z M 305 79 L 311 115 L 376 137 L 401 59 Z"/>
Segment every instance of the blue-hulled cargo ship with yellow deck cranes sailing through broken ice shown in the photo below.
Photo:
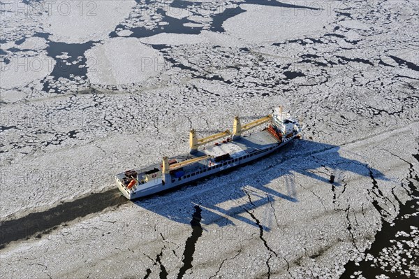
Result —
<path fill-rule="evenodd" d="M 262 126 L 260 131 L 247 132 Z M 301 131 L 300 122 L 284 113 L 281 106 L 248 124 L 235 117 L 233 132 L 198 138 L 192 129 L 189 154 L 163 157 L 161 164 L 119 173 L 115 180 L 127 199 L 138 199 L 247 164 L 301 138 Z"/>

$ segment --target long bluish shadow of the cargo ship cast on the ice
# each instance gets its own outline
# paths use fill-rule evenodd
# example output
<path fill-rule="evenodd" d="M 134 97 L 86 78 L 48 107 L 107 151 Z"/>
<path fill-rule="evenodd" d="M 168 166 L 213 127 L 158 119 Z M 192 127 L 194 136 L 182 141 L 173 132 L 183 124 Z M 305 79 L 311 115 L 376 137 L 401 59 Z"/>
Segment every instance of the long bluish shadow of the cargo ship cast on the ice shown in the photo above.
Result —
<path fill-rule="evenodd" d="M 339 188 L 345 180 L 357 176 L 388 180 L 383 173 L 369 166 L 366 158 L 355 155 L 360 157 L 359 161 L 348 159 L 339 154 L 339 149 L 337 145 L 296 140 L 255 162 L 133 202 L 179 223 L 189 224 L 194 206 L 200 206 L 201 224 L 223 227 L 244 222 L 270 231 L 272 208 L 254 213 L 253 210 L 272 201 L 281 203 L 276 208 L 300 202 L 300 185 L 309 187 L 313 179 L 324 183 L 318 187 L 329 185 L 330 189 L 332 186 Z"/>

